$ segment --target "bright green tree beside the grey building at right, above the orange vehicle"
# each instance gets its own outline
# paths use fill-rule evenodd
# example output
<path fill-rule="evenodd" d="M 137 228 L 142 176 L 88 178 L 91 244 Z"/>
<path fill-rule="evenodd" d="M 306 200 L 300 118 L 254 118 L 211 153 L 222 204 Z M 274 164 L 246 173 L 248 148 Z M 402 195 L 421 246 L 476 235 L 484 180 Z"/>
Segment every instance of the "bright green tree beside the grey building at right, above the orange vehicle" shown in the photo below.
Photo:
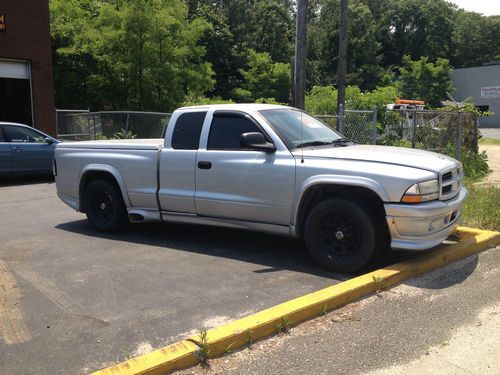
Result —
<path fill-rule="evenodd" d="M 439 106 L 446 99 L 446 92 L 453 90 L 450 79 L 452 67 L 446 59 L 438 58 L 435 63 L 427 57 L 417 61 L 403 56 L 398 82 L 405 99 L 425 100 L 431 106 Z"/>

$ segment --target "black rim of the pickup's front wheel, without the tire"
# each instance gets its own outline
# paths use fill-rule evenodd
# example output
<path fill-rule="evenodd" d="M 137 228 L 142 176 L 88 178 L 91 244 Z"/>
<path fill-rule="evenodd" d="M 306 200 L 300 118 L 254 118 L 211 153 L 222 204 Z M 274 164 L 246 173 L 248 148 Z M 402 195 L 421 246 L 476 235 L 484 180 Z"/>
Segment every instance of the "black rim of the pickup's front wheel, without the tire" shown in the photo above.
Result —
<path fill-rule="evenodd" d="M 329 258 L 347 260 L 361 252 L 363 232 L 350 215 L 331 214 L 321 220 L 317 239 Z"/>

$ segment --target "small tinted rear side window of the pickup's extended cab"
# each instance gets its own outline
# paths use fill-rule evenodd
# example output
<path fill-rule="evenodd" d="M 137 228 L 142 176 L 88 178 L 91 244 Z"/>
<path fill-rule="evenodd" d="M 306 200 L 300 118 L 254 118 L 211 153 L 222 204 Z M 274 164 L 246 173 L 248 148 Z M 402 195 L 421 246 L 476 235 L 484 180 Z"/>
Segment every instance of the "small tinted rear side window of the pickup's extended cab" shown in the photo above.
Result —
<path fill-rule="evenodd" d="M 183 113 L 177 118 L 172 135 L 172 148 L 198 150 L 201 128 L 207 112 Z"/>

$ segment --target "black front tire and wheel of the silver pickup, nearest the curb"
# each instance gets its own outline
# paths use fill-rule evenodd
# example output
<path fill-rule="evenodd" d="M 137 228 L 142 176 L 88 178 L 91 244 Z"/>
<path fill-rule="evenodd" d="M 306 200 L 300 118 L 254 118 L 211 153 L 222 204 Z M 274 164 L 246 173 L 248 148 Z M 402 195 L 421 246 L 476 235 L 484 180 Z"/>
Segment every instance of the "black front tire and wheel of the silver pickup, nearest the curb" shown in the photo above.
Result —
<path fill-rule="evenodd" d="M 365 266 L 378 246 L 374 215 L 347 199 L 319 203 L 307 216 L 304 237 L 316 261 L 334 272 Z"/>

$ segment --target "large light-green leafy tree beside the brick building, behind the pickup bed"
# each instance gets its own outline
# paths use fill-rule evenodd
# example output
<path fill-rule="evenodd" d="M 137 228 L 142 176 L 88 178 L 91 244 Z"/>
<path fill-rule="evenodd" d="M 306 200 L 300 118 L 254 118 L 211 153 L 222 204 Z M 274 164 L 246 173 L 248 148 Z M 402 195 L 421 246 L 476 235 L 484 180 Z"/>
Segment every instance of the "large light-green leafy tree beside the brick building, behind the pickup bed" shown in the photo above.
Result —
<path fill-rule="evenodd" d="M 82 17 L 56 56 L 90 56 L 93 66 L 80 80 L 92 109 L 172 110 L 213 86 L 198 43 L 208 25 L 189 21 L 181 0 L 51 0 L 51 8 L 62 15 L 58 35 L 71 30 L 74 20 L 66 14 Z"/>

